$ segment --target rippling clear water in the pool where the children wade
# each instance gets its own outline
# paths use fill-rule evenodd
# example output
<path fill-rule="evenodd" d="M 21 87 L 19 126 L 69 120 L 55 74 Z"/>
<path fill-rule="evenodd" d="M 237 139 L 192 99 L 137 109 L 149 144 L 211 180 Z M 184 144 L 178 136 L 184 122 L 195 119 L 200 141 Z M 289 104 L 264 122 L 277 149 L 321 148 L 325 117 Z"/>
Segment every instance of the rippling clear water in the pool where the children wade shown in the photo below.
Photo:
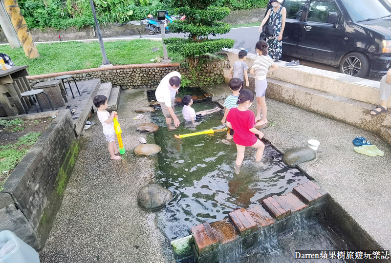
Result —
<path fill-rule="evenodd" d="M 192 107 L 197 112 L 216 106 L 205 102 Z M 182 107 L 175 107 L 175 113 L 182 116 Z M 156 183 L 174 194 L 174 199 L 158 212 L 158 225 L 170 240 L 187 236 L 191 227 L 202 222 L 222 220 L 239 207 L 253 207 L 265 196 L 285 194 L 308 181 L 298 169 L 286 167 L 282 155 L 270 144 L 266 144 L 263 155 L 264 169 L 253 167 L 256 150 L 247 148 L 242 170 L 236 175 L 236 146 L 221 142 L 226 131 L 174 138 L 174 134 L 221 129 L 222 117 L 222 111 L 213 113 L 204 116 L 198 125 L 181 123 L 177 130 L 167 131 L 161 111 L 152 115 L 152 122 L 161 127 L 154 133 L 156 144 L 162 148 Z"/>

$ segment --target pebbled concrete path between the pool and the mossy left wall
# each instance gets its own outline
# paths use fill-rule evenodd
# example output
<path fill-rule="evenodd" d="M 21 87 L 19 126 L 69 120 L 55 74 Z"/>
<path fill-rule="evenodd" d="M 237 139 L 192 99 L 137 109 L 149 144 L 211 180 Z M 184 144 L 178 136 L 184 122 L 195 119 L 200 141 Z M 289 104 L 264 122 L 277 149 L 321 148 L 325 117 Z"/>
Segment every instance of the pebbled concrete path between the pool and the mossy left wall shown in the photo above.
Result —
<path fill-rule="evenodd" d="M 150 121 L 150 113 L 141 120 L 131 118 L 145 103 L 144 90 L 121 93 L 118 114 L 127 152 L 120 161 L 109 160 L 102 125 L 93 114 L 95 125 L 80 139 L 62 207 L 40 252 L 42 263 L 172 261 L 170 244 L 155 226 L 155 213 L 137 205 L 138 191 L 152 182 L 156 167 L 156 158 L 133 155 L 138 137 L 145 137 L 135 129 Z"/>

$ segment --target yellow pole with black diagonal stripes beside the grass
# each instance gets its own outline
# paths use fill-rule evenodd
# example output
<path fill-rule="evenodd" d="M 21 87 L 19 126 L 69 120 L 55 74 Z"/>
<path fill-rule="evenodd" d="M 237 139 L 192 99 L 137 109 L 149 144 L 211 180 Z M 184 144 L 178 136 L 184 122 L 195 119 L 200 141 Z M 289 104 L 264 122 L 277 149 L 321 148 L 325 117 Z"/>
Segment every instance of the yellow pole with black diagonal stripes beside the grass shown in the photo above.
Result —
<path fill-rule="evenodd" d="M 24 20 L 21 14 L 21 8 L 19 7 L 17 0 L 2 0 L 4 2 L 5 11 L 11 19 L 11 23 L 15 28 L 16 34 L 22 43 L 24 54 L 28 58 L 39 57 L 38 49 L 34 44 L 30 31 L 28 30 L 26 20 Z"/>

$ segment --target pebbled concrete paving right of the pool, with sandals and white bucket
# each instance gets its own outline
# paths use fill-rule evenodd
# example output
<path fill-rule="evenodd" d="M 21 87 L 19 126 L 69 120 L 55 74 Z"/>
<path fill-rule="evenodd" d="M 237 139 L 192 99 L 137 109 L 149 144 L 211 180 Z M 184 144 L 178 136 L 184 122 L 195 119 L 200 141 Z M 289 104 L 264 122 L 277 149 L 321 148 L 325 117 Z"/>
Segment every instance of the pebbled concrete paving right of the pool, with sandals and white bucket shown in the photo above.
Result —
<path fill-rule="evenodd" d="M 222 104 L 230 94 L 225 84 L 210 90 Z M 370 131 L 266 98 L 271 126 L 264 137 L 282 153 L 307 147 L 309 139 L 321 145 L 314 161 L 299 165 L 384 249 L 391 248 L 391 147 Z M 256 103 L 251 110 L 256 112 Z M 385 152 L 370 157 L 356 153 L 352 140 L 367 138 Z M 369 249 L 369 248 L 367 248 Z"/>

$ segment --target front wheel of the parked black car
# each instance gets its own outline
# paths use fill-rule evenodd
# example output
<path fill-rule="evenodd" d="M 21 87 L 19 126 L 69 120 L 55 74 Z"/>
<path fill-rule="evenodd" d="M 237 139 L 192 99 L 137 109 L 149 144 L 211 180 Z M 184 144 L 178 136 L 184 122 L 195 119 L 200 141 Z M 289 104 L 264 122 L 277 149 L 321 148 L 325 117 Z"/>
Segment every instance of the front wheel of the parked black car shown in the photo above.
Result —
<path fill-rule="evenodd" d="M 341 73 L 356 77 L 369 75 L 370 62 L 367 55 L 360 52 L 351 52 L 342 58 L 339 65 Z"/>

